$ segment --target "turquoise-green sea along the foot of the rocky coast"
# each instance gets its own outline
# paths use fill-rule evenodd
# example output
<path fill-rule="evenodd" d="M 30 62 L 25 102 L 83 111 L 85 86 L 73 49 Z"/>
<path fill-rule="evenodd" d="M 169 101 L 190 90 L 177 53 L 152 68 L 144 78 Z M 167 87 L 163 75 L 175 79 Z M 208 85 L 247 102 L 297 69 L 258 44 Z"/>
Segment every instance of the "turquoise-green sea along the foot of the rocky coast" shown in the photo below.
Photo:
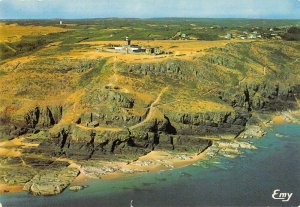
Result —
<path fill-rule="evenodd" d="M 82 191 L 58 196 L 27 193 L 0 196 L 3 207 L 102 206 L 299 206 L 300 126 L 275 125 L 250 141 L 235 159 L 216 157 L 196 165 L 117 180 L 87 183 Z M 280 135 L 280 136 L 279 136 Z M 288 202 L 274 200 L 273 191 L 293 193 Z"/>

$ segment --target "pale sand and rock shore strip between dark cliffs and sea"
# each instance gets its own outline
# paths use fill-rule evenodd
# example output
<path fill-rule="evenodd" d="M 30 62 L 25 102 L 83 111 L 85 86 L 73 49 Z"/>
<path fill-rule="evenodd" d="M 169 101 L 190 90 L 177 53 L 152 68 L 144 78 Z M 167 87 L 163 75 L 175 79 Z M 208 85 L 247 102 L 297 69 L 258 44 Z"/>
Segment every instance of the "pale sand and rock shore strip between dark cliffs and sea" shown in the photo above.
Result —
<path fill-rule="evenodd" d="M 299 123 L 299 121 L 295 121 L 296 119 L 293 118 L 300 116 L 300 110 L 295 111 L 284 111 L 284 112 L 276 112 L 273 114 L 270 114 L 269 118 L 266 120 L 260 120 L 257 123 L 257 126 L 263 125 L 260 128 L 267 128 L 272 125 L 278 125 L 278 124 L 285 124 L 285 123 Z M 251 126 L 250 126 L 251 128 Z M 245 129 L 247 131 L 247 128 Z M 244 131 L 244 132 L 245 132 Z M 242 133 L 244 133 L 242 132 Z M 264 132 L 264 131 L 263 131 Z M 250 136 L 250 138 L 261 138 L 265 135 L 265 133 L 259 134 L 259 136 Z M 239 149 L 251 149 L 256 150 L 257 148 L 253 145 L 251 145 L 248 142 L 244 141 L 244 137 L 238 136 L 237 138 L 230 140 L 229 144 L 227 143 L 228 140 L 216 140 L 214 141 L 214 144 L 208 148 L 206 148 L 203 152 L 197 153 L 197 154 L 191 154 L 191 153 L 174 153 L 174 152 L 168 152 L 168 151 L 151 151 L 150 153 L 139 157 L 136 161 L 132 161 L 130 163 L 122 163 L 117 166 L 121 169 L 125 170 L 125 173 L 115 171 L 113 173 L 108 173 L 106 175 L 101 176 L 101 178 L 93 178 L 89 177 L 85 174 L 80 174 L 71 184 L 71 186 L 76 185 L 84 185 L 86 182 L 94 179 L 103 179 L 103 180 L 113 180 L 113 179 L 122 179 L 124 177 L 129 176 L 135 176 L 142 173 L 148 173 L 148 172 L 158 172 L 158 171 L 165 171 L 170 170 L 173 168 L 182 168 L 186 167 L 188 165 L 195 164 L 197 161 L 205 160 L 206 158 L 210 159 L 211 156 L 214 156 L 214 153 L 216 152 L 214 147 L 218 148 L 218 153 L 220 155 L 228 157 L 228 158 L 235 158 L 237 155 L 241 154 L 241 151 Z M 236 148 L 236 149 L 235 149 Z M 229 153 L 229 154 L 227 154 Z M 182 156 L 181 159 L 178 158 L 178 156 Z M 175 156 L 175 157 L 174 157 Z M 177 158 L 176 158 L 177 156 Z M 137 163 L 140 162 L 149 162 L 152 161 L 151 164 L 139 166 Z M 109 163 L 109 165 L 114 165 L 116 162 Z M 138 169 L 141 171 L 134 171 L 131 173 L 126 173 L 126 170 L 131 169 Z M 81 170 L 82 171 L 82 170 Z"/>

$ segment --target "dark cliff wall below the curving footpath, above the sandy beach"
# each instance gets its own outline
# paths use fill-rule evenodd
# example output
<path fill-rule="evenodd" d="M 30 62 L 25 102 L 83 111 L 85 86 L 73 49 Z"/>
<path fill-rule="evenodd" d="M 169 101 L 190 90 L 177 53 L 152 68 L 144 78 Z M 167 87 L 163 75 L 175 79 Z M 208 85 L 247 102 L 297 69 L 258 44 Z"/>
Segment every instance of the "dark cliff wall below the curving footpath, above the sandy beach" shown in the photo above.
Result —
<path fill-rule="evenodd" d="M 122 131 L 82 130 L 64 126 L 33 153 L 67 156 L 73 159 L 137 159 L 153 149 L 200 152 L 211 144 L 205 138 L 177 135 L 168 117 Z"/>

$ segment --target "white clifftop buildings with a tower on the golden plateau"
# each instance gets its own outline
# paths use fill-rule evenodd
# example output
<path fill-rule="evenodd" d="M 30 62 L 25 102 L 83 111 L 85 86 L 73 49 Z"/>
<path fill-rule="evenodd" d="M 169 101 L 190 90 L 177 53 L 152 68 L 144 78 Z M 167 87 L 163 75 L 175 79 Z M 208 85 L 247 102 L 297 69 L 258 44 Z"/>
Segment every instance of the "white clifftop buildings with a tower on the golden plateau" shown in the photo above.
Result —
<path fill-rule="evenodd" d="M 144 47 L 140 45 L 131 44 L 131 40 L 126 37 L 123 45 L 109 45 L 106 48 L 103 48 L 107 52 L 120 52 L 126 54 L 149 54 L 149 55 L 160 55 L 165 54 L 166 52 L 161 49 L 161 47 Z"/>

